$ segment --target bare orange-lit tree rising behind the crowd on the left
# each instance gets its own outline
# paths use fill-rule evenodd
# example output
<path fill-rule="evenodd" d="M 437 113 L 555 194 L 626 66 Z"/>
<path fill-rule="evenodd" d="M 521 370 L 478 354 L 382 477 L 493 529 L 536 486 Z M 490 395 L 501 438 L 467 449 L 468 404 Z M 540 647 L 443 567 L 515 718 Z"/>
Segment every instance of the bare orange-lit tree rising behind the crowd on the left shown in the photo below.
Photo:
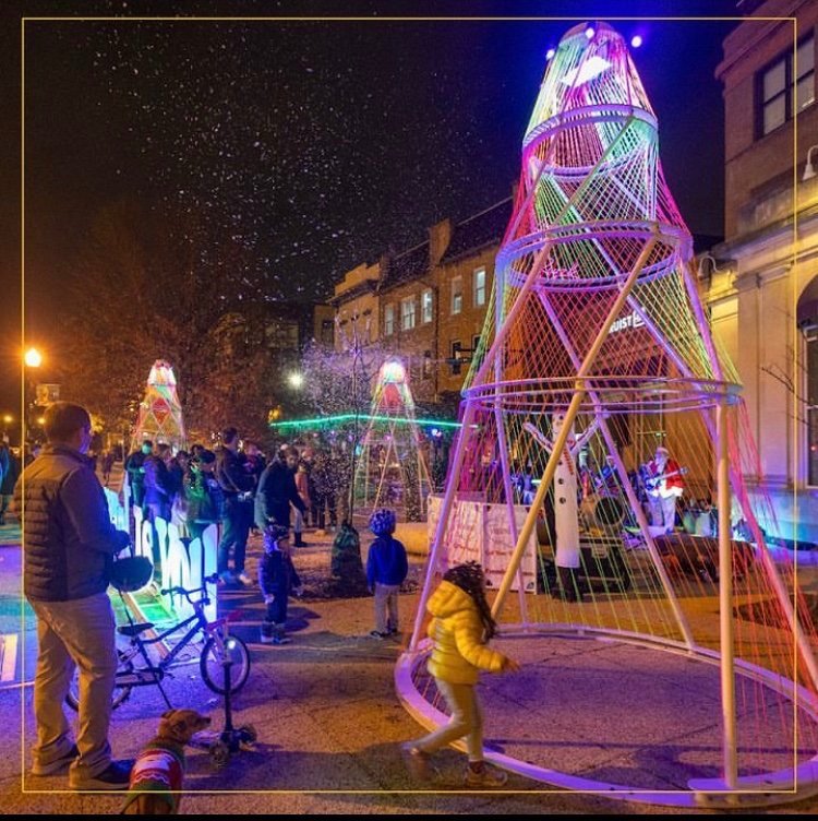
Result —
<path fill-rule="evenodd" d="M 257 437 L 273 401 L 263 329 L 244 321 L 229 338 L 219 332 L 237 301 L 240 259 L 214 271 L 202 262 L 195 226 L 165 225 L 124 203 L 97 219 L 69 295 L 64 395 L 121 428 L 133 423 L 161 358 L 175 368 L 189 430 L 229 423 Z"/>

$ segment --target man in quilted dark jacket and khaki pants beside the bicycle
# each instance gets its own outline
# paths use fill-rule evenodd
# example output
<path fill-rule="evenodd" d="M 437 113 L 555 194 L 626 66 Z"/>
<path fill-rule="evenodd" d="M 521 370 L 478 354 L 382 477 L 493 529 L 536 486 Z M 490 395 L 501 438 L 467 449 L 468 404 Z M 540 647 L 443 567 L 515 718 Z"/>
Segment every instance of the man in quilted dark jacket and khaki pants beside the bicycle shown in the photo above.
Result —
<path fill-rule="evenodd" d="M 80 405 L 46 410 L 48 445 L 15 488 L 25 528 L 23 586 L 37 616 L 34 680 L 37 741 L 33 775 L 70 768 L 73 789 L 124 789 L 130 763 L 111 761 L 108 725 L 117 671 L 113 609 L 106 590 L 112 557 L 130 537 L 117 531 L 85 454 L 91 417 Z M 62 710 L 80 670 L 76 745 Z"/>

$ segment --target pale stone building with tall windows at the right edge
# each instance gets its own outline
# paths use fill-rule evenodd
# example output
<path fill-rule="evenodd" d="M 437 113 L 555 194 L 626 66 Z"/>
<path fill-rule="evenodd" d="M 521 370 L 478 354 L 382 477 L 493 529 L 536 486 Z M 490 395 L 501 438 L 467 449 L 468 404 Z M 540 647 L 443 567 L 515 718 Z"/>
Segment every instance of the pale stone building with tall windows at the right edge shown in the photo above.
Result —
<path fill-rule="evenodd" d="M 777 535 L 818 542 L 818 4 L 739 9 L 717 69 L 725 238 L 701 260 L 701 288 L 744 384 Z"/>

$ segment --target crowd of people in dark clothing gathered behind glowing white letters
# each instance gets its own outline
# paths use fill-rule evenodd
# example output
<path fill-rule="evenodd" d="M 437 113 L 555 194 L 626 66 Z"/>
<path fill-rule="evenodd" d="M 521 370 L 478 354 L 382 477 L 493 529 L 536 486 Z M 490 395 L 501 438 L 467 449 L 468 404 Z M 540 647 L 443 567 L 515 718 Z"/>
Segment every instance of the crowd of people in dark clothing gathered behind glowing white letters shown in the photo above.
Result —
<path fill-rule="evenodd" d="M 290 547 L 306 547 L 303 534 L 311 524 L 321 531 L 337 528 L 339 497 L 344 509 L 346 496 L 342 457 L 328 449 L 299 451 L 286 444 L 267 460 L 257 442 L 242 440 L 228 427 L 214 450 L 193 444 L 172 454 L 169 445 L 145 440 L 124 467 L 131 503 L 148 521 L 172 522 L 183 539 L 200 538 L 208 526 L 220 524 L 216 567 L 222 587 L 254 584 L 245 570 L 246 545 L 253 528 L 262 534 L 258 585 L 267 611 L 261 641 L 289 643 L 287 600 L 303 593 Z M 357 539 L 344 522 L 339 555 L 349 554 L 350 532 Z"/>

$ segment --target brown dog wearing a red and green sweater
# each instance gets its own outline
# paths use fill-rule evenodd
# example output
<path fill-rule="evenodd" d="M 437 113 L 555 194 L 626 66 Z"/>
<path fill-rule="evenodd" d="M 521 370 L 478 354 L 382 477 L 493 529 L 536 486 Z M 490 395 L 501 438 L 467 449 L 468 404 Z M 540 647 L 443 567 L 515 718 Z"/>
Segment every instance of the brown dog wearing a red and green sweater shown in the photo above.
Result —
<path fill-rule="evenodd" d="M 159 731 L 134 762 L 121 814 L 173 816 L 179 812 L 184 780 L 184 745 L 209 724 L 209 716 L 195 710 L 163 713 Z"/>

